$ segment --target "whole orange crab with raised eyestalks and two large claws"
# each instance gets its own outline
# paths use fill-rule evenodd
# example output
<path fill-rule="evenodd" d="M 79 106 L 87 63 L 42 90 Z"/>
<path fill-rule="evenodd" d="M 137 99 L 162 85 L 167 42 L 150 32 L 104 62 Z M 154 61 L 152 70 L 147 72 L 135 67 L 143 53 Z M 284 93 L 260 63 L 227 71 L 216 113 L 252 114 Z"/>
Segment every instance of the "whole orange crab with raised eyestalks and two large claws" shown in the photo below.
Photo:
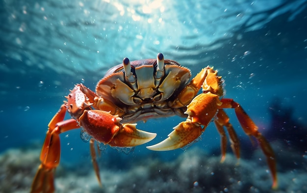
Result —
<path fill-rule="evenodd" d="M 156 134 L 136 129 L 137 121 L 179 115 L 186 120 L 174 127 L 165 140 L 148 146 L 154 151 L 182 148 L 198 139 L 210 122 L 221 136 L 221 162 L 227 148 L 226 128 L 231 148 L 240 157 L 239 139 L 224 109 L 235 110 L 243 131 L 256 138 L 271 171 L 272 188 L 277 188 L 274 151 L 256 124 L 233 99 L 224 97 L 223 80 L 213 67 L 203 68 L 191 81 L 191 72 L 178 62 L 164 59 L 129 61 L 126 57 L 106 73 L 96 92 L 83 84 L 70 90 L 67 101 L 53 116 L 42 147 L 38 171 L 31 193 L 54 192 L 54 172 L 60 161 L 60 134 L 81 128 L 88 136 L 94 170 L 101 185 L 95 141 L 114 147 L 134 147 L 151 141 Z M 202 93 L 199 90 L 202 88 Z M 68 112 L 71 119 L 64 120 Z"/>

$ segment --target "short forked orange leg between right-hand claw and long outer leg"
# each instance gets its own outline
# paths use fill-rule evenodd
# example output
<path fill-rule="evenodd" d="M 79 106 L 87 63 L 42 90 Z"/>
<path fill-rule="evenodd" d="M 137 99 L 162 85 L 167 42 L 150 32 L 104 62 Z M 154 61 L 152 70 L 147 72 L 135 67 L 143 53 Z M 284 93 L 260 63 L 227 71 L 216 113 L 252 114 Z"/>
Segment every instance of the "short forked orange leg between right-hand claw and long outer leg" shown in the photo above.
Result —
<path fill-rule="evenodd" d="M 239 139 L 232 125 L 229 122 L 229 117 L 224 110 L 219 109 L 216 115 L 216 118 L 214 119 L 214 123 L 217 128 L 217 131 L 219 132 L 221 136 L 221 152 L 222 152 L 221 162 L 223 163 L 225 161 L 226 148 L 227 148 L 227 136 L 223 129 L 223 126 L 225 126 L 228 131 L 228 134 L 230 137 L 230 143 L 231 143 L 230 147 L 234 155 L 237 157 L 237 159 L 239 159 L 240 158 L 240 142 L 239 142 Z"/>

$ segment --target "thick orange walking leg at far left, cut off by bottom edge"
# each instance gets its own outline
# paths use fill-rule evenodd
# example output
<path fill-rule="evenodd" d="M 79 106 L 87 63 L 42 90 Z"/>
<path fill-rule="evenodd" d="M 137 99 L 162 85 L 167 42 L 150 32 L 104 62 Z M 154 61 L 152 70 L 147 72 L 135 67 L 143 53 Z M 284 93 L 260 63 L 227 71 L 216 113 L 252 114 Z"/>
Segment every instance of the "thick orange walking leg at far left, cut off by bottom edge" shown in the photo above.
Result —
<path fill-rule="evenodd" d="M 54 171 L 60 161 L 60 138 L 59 134 L 79 128 L 75 119 L 64 120 L 65 105 L 53 116 L 46 134 L 45 142 L 41 151 L 39 165 L 32 183 L 31 193 L 54 192 Z"/>

